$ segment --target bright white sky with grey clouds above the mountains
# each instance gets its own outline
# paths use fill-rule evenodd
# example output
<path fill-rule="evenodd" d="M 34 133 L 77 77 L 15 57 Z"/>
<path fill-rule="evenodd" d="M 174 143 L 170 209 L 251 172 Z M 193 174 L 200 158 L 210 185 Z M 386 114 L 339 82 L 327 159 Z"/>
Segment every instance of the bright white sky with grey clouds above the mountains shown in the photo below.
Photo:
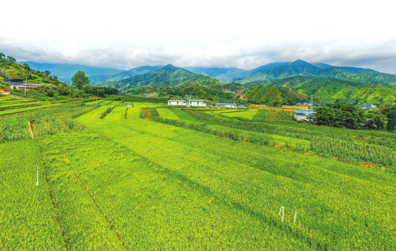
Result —
<path fill-rule="evenodd" d="M 18 61 L 248 70 L 302 59 L 396 74 L 394 0 L 19 0 L 1 9 L 0 52 Z"/>

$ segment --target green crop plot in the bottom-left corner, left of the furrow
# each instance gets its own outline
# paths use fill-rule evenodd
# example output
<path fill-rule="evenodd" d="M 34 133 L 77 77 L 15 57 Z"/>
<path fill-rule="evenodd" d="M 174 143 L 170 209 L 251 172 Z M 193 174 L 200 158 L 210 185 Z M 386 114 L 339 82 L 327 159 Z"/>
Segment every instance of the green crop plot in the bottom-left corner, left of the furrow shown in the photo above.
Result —
<path fill-rule="evenodd" d="M 0 249 L 62 250 L 62 233 L 45 177 L 47 170 L 34 141 L 1 143 L 0 153 Z"/>

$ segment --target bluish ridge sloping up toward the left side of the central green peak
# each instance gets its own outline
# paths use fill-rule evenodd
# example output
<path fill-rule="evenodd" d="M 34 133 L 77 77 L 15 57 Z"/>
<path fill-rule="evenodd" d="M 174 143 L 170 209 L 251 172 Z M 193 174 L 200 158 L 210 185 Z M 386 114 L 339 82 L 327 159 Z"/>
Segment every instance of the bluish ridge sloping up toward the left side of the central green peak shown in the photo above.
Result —
<path fill-rule="evenodd" d="M 117 80 L 127 79 L 127 78 L 130 78 L 130 77 L 135 76 L 135 75 L 139 75 L 139 74 L 144 74 L 144 73 L 148 73 L 148 72 L 151 72 L 151 71 L 155 71 L 155 70 L 158 70 L 161 67 L 162 67 L 162 65 L 139 66 L 139 67 L 132 68 L 130 70 L 121 71 L 121 72 L 117 72 L 117 73 L 108 73 L 108 74 L 104 74 L 104 75 L 91 76 L 90 80 L 91 80 L 91 83 L 93 83 L 93 84 L 109 82 L 109 81 L 117 81 Z"/>

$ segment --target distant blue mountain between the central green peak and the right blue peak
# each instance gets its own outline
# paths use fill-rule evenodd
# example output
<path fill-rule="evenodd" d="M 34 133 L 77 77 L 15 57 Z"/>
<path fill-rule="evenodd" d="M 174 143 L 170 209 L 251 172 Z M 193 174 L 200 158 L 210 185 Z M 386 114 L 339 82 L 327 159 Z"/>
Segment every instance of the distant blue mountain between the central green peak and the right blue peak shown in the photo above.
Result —
<path fill-rule="evenodd" d="M 203 76 L 215 78 L 221 82 L 232 82 L 243 76 L 247 71 L 239 68 L 221 67 L 185 67 L 184 69 Z"/>

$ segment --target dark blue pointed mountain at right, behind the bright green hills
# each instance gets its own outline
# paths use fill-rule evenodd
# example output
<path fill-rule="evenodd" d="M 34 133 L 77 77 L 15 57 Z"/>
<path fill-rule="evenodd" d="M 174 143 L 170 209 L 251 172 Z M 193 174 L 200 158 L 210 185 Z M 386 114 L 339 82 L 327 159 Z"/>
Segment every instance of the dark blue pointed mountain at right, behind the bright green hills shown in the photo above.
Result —
<path fill-rule="evenodd" d="M 321 78 L 337 78 L 345 80 L 356 80 L 367 83 L 382 83 L 396 85 L 396 75 L 377 73 L 351 73 L 337 68 L 319 68 L 303 60 L 296 61 L 272 68 L 264 73 L 255 74 L 244 80 L 240 84 L 269 84 L 270 82 L 291 76 L 307 76 Z"/>

